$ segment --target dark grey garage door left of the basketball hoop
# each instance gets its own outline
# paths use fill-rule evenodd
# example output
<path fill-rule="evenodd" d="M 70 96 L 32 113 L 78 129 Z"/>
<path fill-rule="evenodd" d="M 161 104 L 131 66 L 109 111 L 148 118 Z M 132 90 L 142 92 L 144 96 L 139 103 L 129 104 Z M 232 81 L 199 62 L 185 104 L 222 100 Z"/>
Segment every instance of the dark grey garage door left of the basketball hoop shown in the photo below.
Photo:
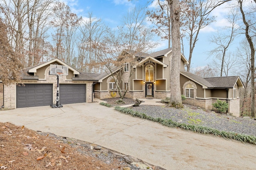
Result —
<path fill-rule="evenodd" d="M 18 84 L 16 87 L 17 108 L 52 104 L 52 84 Z"/>

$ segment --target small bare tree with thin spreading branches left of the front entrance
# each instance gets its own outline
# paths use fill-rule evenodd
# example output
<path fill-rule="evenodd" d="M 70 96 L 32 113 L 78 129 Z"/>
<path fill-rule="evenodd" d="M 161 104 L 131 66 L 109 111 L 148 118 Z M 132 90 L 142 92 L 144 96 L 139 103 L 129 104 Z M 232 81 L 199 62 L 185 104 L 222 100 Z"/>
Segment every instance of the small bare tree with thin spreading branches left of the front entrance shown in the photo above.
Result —
<path fill-rule="evenodd" d="M 134 8 L 130 10 L 123 17 L 122 23 L 117 30 L 109 31 L 100 43 L 93 45 L 97 48 L 95 51 L 98 60 L 104 65 L 105 71 L 115 82 L 121 100 L 127 92 L 127 89 L 122 88 L 122 84 L 129 84 L 130 77 L 135 70 L 133 66 L 139 62 L 133 54 L 135 52 L 147 52 L 157 45 L 157 43 L 152 42 L 154 34 L 146 27 L 144 9 Z M 120 54 L 122 50 L 124 51 Z M 125 63 L 129 63 L 129 67 L 128 72 L 123 74 Z"/>

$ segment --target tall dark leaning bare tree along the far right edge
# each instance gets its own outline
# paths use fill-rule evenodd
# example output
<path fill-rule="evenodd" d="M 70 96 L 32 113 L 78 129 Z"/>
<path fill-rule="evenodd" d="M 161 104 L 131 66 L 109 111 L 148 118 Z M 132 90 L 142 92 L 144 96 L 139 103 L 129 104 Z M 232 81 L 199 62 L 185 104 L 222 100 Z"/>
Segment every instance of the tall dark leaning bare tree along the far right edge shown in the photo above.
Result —
<path fill-rule="evenodd" d="M 255 49 L 254 49 L 254 43 L 252 41 L 252 36 L 255 36 L 254 35 L 251 35 L 250 33 L 250 27 L 252 26 L 252 18 L 248 19 L 249 18 L 249 15 L 250 13 L 247 13 L 245 14 L 244 13 L 244 9 L 243 9 L 243 0 L 238 0 L 238 4 L 239 4 L 239 8 L 240 8 L 240 12 L 242 14 L 242 20 L 243 20 L 243 23 L 244 23 L 244 26 L 245 26 L 245 37 L 246 37 L 246 40 L 248 41 L 249 43 L 249 46 L 250 46 L 250 53 L 251 53 L 251 116 L 252 117 L 255 117 Z M 246 18 L 248 17 L 248 18 Z"/>

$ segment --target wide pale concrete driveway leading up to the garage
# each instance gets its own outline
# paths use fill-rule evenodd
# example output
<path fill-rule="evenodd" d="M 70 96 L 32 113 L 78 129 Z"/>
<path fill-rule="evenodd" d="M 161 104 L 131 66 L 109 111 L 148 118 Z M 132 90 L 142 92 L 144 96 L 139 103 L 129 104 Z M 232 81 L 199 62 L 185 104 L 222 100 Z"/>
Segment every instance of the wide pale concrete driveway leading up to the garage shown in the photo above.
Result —
<path fill-rule="evenodd" d="M 256 146 L 120 113 L 99 103 L 0 111 L 1 122 L 72 137 L 176 169 L 255 169 Z"/>

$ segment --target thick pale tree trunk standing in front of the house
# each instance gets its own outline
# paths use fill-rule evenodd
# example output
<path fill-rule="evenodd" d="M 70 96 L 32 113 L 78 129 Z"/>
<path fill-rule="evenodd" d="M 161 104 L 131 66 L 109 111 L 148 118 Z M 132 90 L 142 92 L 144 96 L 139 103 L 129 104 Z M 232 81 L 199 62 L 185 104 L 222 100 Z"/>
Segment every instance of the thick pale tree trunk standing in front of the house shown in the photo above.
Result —
<path fill-rule="evenodd" d="M 180 91 L 180 10 L 179 0 L 168 0 L 172 19 L 172 58 L 170 68 L 170 103 L 169 107 L 183 107 Z"/>

